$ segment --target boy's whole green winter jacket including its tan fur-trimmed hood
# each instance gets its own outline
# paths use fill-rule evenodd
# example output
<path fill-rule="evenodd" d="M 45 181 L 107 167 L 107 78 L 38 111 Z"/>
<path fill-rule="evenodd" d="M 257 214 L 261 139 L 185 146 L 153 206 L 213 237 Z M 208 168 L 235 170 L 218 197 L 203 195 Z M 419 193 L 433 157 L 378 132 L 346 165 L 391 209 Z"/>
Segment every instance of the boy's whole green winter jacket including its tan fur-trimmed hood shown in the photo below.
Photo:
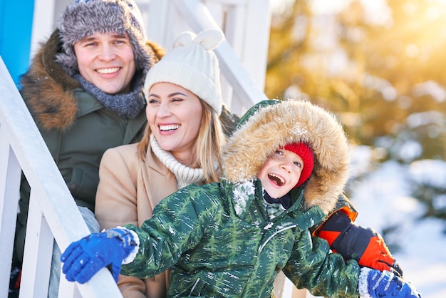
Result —
<path fill-rule="evenodd" d="M 308 230 L 336 205 L 346 183 L 341 125 L 301 101 L 262 102 L 247 115 L 224 150 L 221 183 L 182 188 L 140 228 L 125 226 L 140 246 L 121 273 L 150 277 L 171 267 L 168 297 L 273 297 L 274 278 L 283 270 L 312 294 L 358 297 L 358 264 L 330 253 Z M 254 176 L 276 148 L 297 140 L 313 148 L 313 174 L 292 190 L 299 199 L 271 219 Z"/>

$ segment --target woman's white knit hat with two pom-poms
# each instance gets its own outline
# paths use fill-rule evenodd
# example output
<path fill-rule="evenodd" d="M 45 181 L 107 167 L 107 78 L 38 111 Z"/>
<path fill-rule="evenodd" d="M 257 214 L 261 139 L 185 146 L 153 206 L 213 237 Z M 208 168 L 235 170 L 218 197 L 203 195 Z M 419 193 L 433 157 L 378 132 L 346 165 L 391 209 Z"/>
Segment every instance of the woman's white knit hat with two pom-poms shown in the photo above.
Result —
<path fill-rule="evenodd" d="M 217 115 L 222 112 L 222 87 L 217 56 L 212 51 L 224 40 L 217 29 L 195 35 L 185 31 L 173 43 L 172 49 L 147 73 L 144 91 L 147 100 L 156 83 L 174 83 L 205 101 Z"/>

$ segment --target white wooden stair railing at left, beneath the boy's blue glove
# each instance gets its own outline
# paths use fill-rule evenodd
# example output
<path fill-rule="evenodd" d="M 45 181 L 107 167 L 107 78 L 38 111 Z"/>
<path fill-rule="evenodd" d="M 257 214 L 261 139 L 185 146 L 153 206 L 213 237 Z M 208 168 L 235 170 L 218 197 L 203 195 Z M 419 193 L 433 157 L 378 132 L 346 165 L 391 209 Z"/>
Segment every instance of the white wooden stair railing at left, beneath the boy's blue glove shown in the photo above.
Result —
<path fill-rule="evenodd" d="M 0 77 L 0 297 L 8 296 L 22 170 L 31 197 L 20 297 L 46 297 L 53 240 L 64 250 L 90 232 L 1 59 Z M 60 297 L 120 297 L 106 269 L 87 284 L 63 280 Z"/>

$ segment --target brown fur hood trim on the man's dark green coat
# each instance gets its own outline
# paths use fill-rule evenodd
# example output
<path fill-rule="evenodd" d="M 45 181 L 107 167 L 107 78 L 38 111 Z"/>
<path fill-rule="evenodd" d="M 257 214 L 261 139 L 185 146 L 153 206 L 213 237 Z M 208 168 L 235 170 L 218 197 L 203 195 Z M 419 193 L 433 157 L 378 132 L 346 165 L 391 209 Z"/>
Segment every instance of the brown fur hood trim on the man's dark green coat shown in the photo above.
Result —
<path fill-rule="evenodd" d="M 61 52 L 61 46 L 56 29 L 33 57 L 20 82 L 21 96 L 38 126 L 45 130 L 66 130 L 74 123 L 78 111 L 73 89 L 81 88 L 81 84 L 56 63 L 56 54 Z M 164 50 L 155 43 L 147 41 L 146 47 L 147 53 L 155 52 L 156 61 L 164 54 Z M 147 71 L 151 66 L 147 64 Z"/>

